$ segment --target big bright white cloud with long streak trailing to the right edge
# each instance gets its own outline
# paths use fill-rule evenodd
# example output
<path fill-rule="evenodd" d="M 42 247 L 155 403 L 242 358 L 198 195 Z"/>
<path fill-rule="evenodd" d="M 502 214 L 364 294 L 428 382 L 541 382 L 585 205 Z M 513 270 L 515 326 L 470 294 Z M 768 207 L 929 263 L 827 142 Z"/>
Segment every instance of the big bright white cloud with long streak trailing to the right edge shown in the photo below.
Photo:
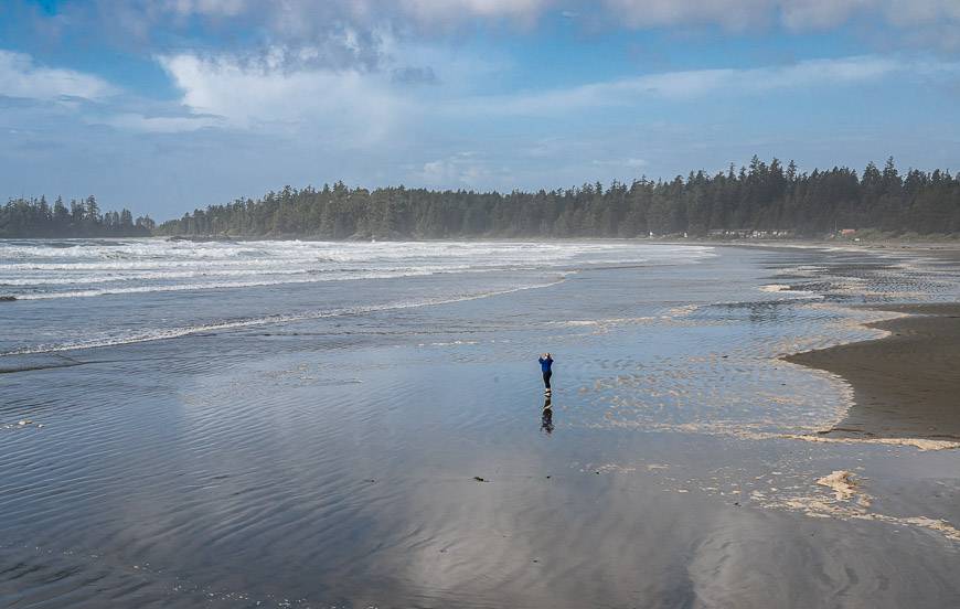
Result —
<path fill-rule="evenodd" d="M 256 58 L 179 54 L 159 57 L 194 119 L 116 119 L 136 130 L 193 130 L 225 126 L 243 130 L 323 137 L 340 145 L 373 146 L 418 121 L 451 119 L 457 128 L 506 116 L 567 117 L 597 108 L 630 108 L 650 99 L 762 95 L 775 90 L 829 90 L 890 77 L 956 79 L 960 64 L 875 55 L 807 60 L 792 64 L 647 74 L 545 92 L 471 96 L 459 86 L 412 89 L 392 72 L 332 70 L 291 63 L 305 51 L 275 47 Z M 446 82 L 446 76 L 440 79 Z M 218 117 L 217 119 L 211 117 Z M 641 167 L 636 164 L 634 167 Z M 457 156 L 427 163 L 430 183 L 472 183 L 482 164 Z"/>

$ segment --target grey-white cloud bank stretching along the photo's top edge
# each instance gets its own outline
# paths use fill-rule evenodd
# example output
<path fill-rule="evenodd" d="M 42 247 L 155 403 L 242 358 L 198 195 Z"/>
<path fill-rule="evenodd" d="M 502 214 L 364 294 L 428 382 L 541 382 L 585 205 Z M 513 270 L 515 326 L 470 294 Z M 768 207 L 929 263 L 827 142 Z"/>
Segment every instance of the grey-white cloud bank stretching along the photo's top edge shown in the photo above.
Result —
<path fill-rule="evenodd" d="M 245 24 L 259 29 L 271 43 L 316 44 L 344 25 L 358 32 L 392 29 L 444 35 L 454 28 L 484 23 L 525 29 L 548 17 L 602 23 L 609 29 L 718 26 L 735 32 L 884 24 L 917 42 L 921 42 L 917 33 L 936 34 L 926 41 L 928 46 L 960 39 L 957 0 L 74 0 L 60 11 L 57 19 L 46 20 L 43 30 L 63 33 L 86 25 L 139 41 L 169 28 L 189 31 L 206 24 L 222 31 Z"/>

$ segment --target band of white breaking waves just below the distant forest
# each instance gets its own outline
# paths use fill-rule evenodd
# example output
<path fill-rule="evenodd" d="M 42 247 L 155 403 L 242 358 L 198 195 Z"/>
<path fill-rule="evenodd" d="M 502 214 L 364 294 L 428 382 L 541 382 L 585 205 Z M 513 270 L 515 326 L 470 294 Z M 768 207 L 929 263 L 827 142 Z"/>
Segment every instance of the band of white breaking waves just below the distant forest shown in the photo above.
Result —
<path fill-rule="evenodd" d="M 712 255 L 711 247 L 630 243 L 14 241 L 0 243 L 0 296 L 88 298 L 447 273 L 678 264 Z"/>

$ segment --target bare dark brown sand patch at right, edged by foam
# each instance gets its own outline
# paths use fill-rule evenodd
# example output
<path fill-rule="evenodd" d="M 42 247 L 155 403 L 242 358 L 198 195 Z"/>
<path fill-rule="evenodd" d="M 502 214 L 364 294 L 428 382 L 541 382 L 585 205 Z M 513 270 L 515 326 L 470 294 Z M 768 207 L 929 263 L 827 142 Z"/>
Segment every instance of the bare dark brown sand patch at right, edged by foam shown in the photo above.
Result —
<path fill-rule="evenodd" d="M 798 353 L 843 376 L 855 404 L 830 435 L 960 439 L 960 303 L 878 307 L 911 313 L 871 324 L 886 338 Z"/>

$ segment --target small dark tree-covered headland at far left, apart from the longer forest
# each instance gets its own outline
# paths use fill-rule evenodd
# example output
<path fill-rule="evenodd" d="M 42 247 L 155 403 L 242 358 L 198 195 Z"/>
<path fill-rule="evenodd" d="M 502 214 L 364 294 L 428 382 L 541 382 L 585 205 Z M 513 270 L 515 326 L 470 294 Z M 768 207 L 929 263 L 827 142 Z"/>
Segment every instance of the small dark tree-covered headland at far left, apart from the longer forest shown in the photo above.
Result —
<path fill-rule="evenodd" d="M 146 237 L 156 223 L 150 216 L 134 220 L 124 209 L 100 213 L 96 197 L 73 199 L 67 206 L 57 196 L 53 205 L 45 196 L 11 199 L 0 207 L 0 238 L 13 237 Z"/>

